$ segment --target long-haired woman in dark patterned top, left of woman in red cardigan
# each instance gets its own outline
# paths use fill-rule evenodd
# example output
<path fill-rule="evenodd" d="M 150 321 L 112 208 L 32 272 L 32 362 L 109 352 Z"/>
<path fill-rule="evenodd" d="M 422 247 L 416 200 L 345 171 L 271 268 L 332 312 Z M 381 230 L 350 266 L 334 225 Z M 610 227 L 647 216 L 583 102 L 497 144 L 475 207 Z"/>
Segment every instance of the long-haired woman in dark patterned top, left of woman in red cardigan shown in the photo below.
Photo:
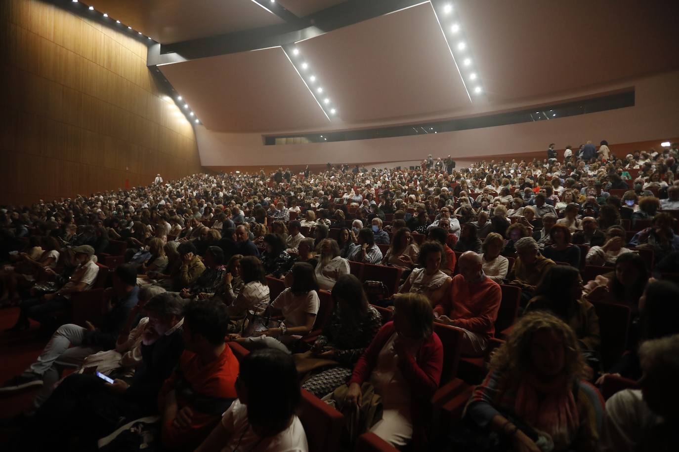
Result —
<path fill-rule="evenodd" d="M 309 354 L 337 363 L 324 366 L 302 384 L 302 388 L 318 397 L 346 382 L 356 361 L 382 327 L 380 312 L 368 303 L 363 283 L 353 274 L 339 276 L 331 294 L 335 309 Z"/>

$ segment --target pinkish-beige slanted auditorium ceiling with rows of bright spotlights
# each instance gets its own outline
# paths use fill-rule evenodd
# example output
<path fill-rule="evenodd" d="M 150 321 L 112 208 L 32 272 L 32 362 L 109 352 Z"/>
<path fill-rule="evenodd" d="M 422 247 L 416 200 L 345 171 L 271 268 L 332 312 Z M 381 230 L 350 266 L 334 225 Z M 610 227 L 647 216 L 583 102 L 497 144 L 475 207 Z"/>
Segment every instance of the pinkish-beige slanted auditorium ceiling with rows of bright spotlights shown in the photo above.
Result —
<path fill-rule="evenodd" d="M 679 67 L 677 2 L 96 2 L 160 43 L 149 66 L 215 131 L 457 117 Z"/>

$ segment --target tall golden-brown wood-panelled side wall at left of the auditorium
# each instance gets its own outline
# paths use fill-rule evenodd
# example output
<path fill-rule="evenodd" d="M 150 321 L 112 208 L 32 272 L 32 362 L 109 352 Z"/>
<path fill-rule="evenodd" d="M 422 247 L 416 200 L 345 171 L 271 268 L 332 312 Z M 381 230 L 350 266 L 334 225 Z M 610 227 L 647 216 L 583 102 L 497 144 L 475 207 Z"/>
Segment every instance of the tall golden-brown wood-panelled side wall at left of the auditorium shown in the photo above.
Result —
<path fill-rule="evenodd" d="M 144 43 L 39 0 L 0 1 L 0 204 L 201 171 Z"/>

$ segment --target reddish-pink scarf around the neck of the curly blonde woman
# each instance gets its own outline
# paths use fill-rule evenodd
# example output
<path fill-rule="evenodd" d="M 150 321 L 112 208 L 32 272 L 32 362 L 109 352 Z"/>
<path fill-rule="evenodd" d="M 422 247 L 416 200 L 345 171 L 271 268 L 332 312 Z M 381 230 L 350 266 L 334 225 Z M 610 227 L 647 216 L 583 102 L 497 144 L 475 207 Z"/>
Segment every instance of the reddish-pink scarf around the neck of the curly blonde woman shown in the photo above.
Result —
<path fill-rule="evenodd" d="M 566 375 L 545 382 L 528 374 L 521 379 L 514 412 L 528 425 L 551 436 L 555 449 L 566 450 L 575 438 L 580 419 Z"/>

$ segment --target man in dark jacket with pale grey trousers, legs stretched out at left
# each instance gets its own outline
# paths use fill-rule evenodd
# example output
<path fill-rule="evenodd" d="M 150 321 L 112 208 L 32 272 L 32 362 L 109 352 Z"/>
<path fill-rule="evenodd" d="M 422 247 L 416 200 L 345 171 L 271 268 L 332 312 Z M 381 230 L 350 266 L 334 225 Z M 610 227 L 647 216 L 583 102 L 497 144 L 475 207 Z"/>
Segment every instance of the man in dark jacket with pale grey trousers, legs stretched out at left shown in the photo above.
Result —
<path fill-rule="evenodd" d="M 29 411 L 37 409 L 54 390 L 63 367 L 78 367 L 92 353 L 115 348 L 115 340 L 124 327 L 130 310 L 136 305 L 139 288 L 136 287 L 136 269 L 129 264 L 120 265 L 113 273 L 113 299 L 107 308 L 100 328 L 88 322 L 88 328 L 69 323 L 60 326 L 48 342 L 37 361 L 24 373 L 6 382 L 0 393 L 42 386 Z M 70 348 L 69 348 L 70 347 Z"/>

